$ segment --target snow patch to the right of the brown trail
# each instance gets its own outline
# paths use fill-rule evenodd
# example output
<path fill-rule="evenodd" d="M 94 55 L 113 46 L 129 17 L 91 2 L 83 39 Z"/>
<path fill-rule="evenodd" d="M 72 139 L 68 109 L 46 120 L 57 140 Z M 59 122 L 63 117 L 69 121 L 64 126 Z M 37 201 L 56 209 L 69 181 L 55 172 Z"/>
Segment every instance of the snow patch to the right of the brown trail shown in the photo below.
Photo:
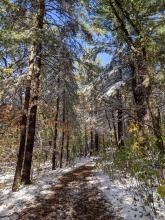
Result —
<path fill-rule="evenodd" d="M 165 219 L 165 204 L 163 201 L 155 203 L 157 215 L 153 215 L 151 209 L 144 205 L 140 197 L 133 195 L 133 187 L 136 186 L 136 181 L 126 179 L 125 183 L 121 181 L 111 181 L 109 176 L 103 172 L 95 172 L 98 188 L 104 193 L 105 197 L 111 202 L 114 212 L 125 220 L 164 220 Z M 132 190 L 131 190 L 132 189 Z M 155 193 L 156 194 L 156 193 Z M 157 195 L 155 195 L 157 196 Z M 145 208 L 145 210 L 144 210 Z"/>

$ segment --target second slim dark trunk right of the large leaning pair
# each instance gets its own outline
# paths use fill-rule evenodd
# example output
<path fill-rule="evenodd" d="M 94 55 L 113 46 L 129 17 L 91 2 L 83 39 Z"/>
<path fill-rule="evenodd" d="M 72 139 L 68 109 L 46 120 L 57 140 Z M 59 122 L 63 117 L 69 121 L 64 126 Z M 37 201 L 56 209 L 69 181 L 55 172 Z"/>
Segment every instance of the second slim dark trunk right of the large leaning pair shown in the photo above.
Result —
<path fill-rule="evenodd" d="M 63 116 L 62 116 L 62 122 L 63 122 L 63 130 L 62 130 L 62 139 L 61 139 L 61 152 L 60 152 L 60 168 L 62 168 L 63 163 L 63 150 L 64 150 L 64 140 L 65 140 L 65 91 L 63 93 Z"/>

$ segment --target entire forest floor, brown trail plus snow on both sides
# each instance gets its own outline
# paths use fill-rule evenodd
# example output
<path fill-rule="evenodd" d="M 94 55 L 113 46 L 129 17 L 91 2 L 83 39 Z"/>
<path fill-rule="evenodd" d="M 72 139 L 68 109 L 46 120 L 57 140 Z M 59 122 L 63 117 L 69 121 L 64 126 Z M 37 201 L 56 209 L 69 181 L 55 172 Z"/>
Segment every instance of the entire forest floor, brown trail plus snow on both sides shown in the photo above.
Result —
<path fill-rule="evenodd" d="M 33 184 L 12 192 L 13 172 L 0 173 L 0 220 L 164 220 L 136 196 L 132 179 L 113 181 L 97 166 L 98 158 L 78 158 L 70 166 L 51 170 L 46 163 L 33 171 Z M 134 186 L 135 185 L 135 186 Z M 160 204 L 160 202 L 159 202 Z"/>

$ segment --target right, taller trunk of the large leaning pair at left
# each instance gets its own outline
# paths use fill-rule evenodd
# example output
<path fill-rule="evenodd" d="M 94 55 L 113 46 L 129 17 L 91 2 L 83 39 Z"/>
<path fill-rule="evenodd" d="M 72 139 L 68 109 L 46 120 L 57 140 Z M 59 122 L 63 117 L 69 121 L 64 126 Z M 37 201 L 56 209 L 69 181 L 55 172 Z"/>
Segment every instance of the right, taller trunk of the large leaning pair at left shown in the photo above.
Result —
<path fill-rule="evenodd" d="M 45 0 L 39 0 L 38 16 L 37 16 L 37 28 L 42 30 L 43 28 L 43 19 L 45 13 Z M 39 95 L 39 77 L 41 74 L 41 53 L 42 53 L 42 44 L 41 42 L 36 43 L 36 65 L 35 70 L 32 75 L 31 82 L 31 106 L 29 113 L 29 125 L 27 133 L 27 142 L 26 142 L 26 152 L 25 160 L 22 173 L 22 182 L 24 184 L 30 184 L 30 173 L 32 165 L 32 155 L 34 147 L 34 137 L 35 137 L 35 127 L 36 127 L 36 116 L 37 116 L 37 103 Z"/>

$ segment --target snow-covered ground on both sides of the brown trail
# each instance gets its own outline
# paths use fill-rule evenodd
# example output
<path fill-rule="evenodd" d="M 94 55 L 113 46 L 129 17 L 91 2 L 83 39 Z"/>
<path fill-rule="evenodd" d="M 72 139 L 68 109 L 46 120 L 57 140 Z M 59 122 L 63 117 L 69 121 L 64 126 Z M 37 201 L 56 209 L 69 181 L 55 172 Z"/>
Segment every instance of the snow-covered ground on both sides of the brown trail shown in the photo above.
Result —
<path fill-rule="evenodd" d="M 72 167 L 58 168 L 54 171 L 51 170 L 51 164 L 46 163 L 42 166 L 42 170 L 39 173 L 37 173 L 37 171 L 34 172 L 33 184 L 21 187 L 18 192 L 11 191 L 12 174 L 0 176 L 0 182 L 7 183 L 7 187 L 0 190 L 0 219 L 17 219 L 17 215 L 14 213 L 19 213 L 27 207 L 28 204 L 32 204 L 37 196 L 51 195 L 52 191 L 50 187 L 52 184 L 59 182 L 60 176 L 85 164 L 94 166 L 95 160 L 97 160 L 97 158 L 78 158 Z M 137 187 L 137 183 L 133 179 L 127 178 L 122 182 L 119 180 L 112 181 L 109 176 L 102 171 L 94 170 L 93 177 L 90 177 L 89 181 L 104 193 L 107 200 L 112 204 L 112 207 L 109 208 L 113 208 L 117 216 L 121 216 L 125 220 L 165 219 L 164 202 L 159 201 L 159 204 L 161 204 L 160 207 L 158 203 L 155 203 L 157 215 L 153 216 L 151 209 L 144 205 L 140 197 L 135 196 L 133 189 Z"/>

